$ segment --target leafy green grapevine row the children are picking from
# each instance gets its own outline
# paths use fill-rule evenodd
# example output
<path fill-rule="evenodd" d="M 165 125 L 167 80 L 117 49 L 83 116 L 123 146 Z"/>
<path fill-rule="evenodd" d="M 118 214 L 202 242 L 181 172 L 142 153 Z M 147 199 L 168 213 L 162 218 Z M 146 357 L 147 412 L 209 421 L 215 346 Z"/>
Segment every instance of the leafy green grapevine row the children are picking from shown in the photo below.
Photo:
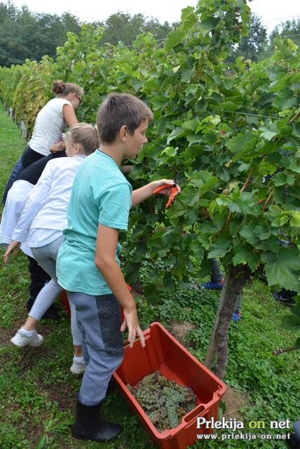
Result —
<path fill-rule="evenodd" d="M 50 86 L 58 74 L 85 89 L 80 120 L 93 123 L 111 91 L 134 93 L 154 110 L 149 144 L 130 181 L 141 187 L 178 173 L 182 194 L 168 210 L 153 196 L 130 215 L 124 271 L 130 283 L 138 281 L 149 255 L 149 299 L 174 291 L 176 281 L 188 286 L 191 273 L 206 274 L 211 257 L 226 270 L 247 265 L 257 274 L 265 266 L 270 286 L 299 288 L 298 248 L 279 245 L 299 241 L 299 123 L 292 120 L 300 102 L 299 50 L 277 38 L 271 58 L 229 65 L 249 19 L 244 1 L 202 1 L 184 9 L 164 48 L 149 35 L 130 48 L 101 46 L 102 31 L 85 25 L 80 38 L 68 34 L 52 65 L 23 65 L 14 88 L 15 67 L 0 71 L 1 95 L 12 93 L 15 113 L 31 124 L 48 100 L 41 84 Z"/>

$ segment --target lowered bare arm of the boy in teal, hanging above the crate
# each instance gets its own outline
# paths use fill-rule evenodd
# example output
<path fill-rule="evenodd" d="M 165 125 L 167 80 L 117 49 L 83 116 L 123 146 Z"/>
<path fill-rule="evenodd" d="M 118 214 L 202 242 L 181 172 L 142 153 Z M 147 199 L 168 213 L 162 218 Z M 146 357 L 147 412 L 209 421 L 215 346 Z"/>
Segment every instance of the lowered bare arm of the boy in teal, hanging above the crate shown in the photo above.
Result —
<path fill-rule="evenodd" d="M 99 225 L 95 251 L 95 265 L 124 309 L 124 321 L 121 326 L 121 331 L 123 332 L 127 326 L 130 347 L 132 347 L 136 335 L 138 335 L 142 347 L 144 347 L 144 335 L 142 329 L 139 327 L 135 300 L 128 290 L 121 269 L 116 262 L 117 245 L 118 229 Z"/>

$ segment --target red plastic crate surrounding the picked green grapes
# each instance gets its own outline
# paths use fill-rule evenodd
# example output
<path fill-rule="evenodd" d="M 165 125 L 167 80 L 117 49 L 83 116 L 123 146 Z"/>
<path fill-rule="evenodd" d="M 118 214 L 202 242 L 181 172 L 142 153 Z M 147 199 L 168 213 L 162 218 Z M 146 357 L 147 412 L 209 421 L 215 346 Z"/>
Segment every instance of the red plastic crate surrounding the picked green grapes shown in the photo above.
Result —
<path fill-rule="evenodd" d="M 212 429 L 196 428 L 196 417 L 217 420 L 219 401 L 226 385 L 200 361 L 172 337 L 161 323 L 152 323 L 144 330 L 146 347 L 139 340 L 133 347 L 125 347 L 121 366 L 114 373 L 118 389 L 125 396 L 130 408 L 149 432 L 154 443 L 161 449 L 186 449 L 197 441 L 197 434 L 212 433 Z M 187 413 L 174 429 L 158 431 L 149 417 L 130 393 L 132 387 L 146 375 L 158 370 L 168 380 L 175 380 L 184 387 L 191 387 L 197 396 L 197 406 Z"/>

